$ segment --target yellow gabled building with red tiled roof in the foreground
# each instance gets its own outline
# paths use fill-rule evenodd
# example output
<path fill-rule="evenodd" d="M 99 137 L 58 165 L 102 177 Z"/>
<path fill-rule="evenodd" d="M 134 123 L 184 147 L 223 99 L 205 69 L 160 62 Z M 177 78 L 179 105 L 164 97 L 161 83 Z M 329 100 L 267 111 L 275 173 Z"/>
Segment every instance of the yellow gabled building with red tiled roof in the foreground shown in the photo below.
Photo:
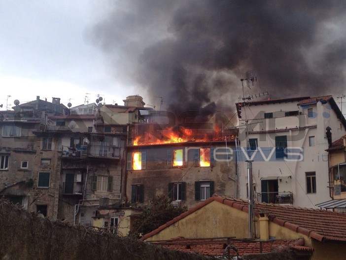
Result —
<path fill-rule="evenodd" d="M 330 256 L 344 259 L 345 214 L 266 203 L 255 203 L 254 212 L 254 237 L 249 238 L 248 203 L 214 195 L 141 239 L 170 248 L 174 248 L 172 241 L 175 241 L 179 242 L 175 244 L 176 249 L 211 255 L 213 253 L 207 253 L 207 249 L 198 250 L 198 239 L 204 240 L 205 244 L 208 244 L 206 240 L 213 239 L 213 246 L 209 246 L 213 252 L 218 252 L 215 239 L 219 238 L 220 250 L 231 244 L 235 247 L 239 241 L 253 243 L 251 246 L 238 244 L 237 252 L 240 255 L 267 253 L 275 248 L 273 245 L 280 245 L 295 250 L 299 259 L 323 260 Z M 233 242 L 227 244 L 222 242 L 222 238 Z M 181 248 L 183 243 L 186 245 Z M 255 245 L 261 249 L 255 249 Z M 252 248 L 252 252 L 249 248 Z"/>

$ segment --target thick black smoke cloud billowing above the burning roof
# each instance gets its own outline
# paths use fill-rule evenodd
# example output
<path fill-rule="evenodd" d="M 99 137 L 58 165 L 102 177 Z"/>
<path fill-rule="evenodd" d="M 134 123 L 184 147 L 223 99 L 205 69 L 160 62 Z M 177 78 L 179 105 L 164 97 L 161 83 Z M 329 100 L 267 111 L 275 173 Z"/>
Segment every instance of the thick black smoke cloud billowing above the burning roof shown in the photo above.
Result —
<path fill-rule="evenodd" d="M 249 70 L 258 81 L 246 93 L 344 92 L 346 1 L 126 0 L 107 8 L 93 42 L 117 78 L 145 89 L 151 103 L 163 97 L 167 110 L 234 107 Z"/>

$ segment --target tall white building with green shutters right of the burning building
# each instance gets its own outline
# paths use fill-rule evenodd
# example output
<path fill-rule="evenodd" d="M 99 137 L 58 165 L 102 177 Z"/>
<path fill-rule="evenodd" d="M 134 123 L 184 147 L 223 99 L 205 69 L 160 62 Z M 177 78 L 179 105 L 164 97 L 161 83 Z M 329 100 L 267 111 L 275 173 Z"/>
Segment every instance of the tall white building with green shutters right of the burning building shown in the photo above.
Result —
<path fill-rule="evenodd" d="M 248 194 L 250 159 L 255 200 L 314 208 L 331 199 L 326 149 L 346 134 L 332 96 L 245 102 L 237 111 L 241 198 Z"/>

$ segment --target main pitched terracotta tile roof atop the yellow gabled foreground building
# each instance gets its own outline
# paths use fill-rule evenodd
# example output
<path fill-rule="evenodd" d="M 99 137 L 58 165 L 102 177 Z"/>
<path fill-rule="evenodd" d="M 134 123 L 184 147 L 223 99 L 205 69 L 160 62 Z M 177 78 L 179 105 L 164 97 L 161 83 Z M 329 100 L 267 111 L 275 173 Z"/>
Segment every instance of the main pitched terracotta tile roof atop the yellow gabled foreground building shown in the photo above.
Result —
<path fill-rule="evenodd" d="M 212 201 L 217 201 L 238 210 L 248 212 L 247 201 L 214 195 L 197 204 L 195 207 L 189 209 L 183 214 L 175 217 L 170 222 L 165 223 L 150 233 L 145 234 L 141 240 L 145 240 L 148 237 L 153 236 L 164 228 L 185 218 L 187 215 L 199 210 Z M 271 222 L 277 223 L 280 226 L 284 226 L 318 241 L 346 242 L 346 214 L 344 213 L 267 203 L 255 203 L 255 213 L 258 213 L 260 210 L 265 210 L 269 213 L 269 220 Z"/>

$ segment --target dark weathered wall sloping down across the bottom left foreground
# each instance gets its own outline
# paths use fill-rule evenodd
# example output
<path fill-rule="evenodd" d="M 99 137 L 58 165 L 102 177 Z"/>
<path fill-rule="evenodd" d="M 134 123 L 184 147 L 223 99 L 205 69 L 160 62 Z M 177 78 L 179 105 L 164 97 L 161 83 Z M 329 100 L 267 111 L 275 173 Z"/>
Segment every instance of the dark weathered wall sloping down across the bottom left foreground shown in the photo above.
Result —
<path fill-rule="evenodd" d="M 0 259 L 211 260 L 149 243 L 50 222 L 0 201 Z"/>

